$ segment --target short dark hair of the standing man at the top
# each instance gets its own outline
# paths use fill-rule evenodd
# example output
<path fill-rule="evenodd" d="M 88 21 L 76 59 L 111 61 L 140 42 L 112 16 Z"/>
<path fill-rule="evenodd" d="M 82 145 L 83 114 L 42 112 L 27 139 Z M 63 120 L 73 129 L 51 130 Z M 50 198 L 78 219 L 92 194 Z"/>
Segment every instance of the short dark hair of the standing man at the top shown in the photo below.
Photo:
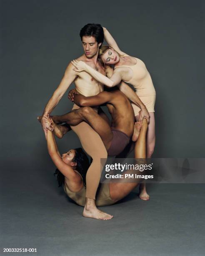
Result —
<path fill-rule="evenodd" d="M 80 38 L 82 41 L 83 36 L 93 36 L 97 41 L 97 44 L 103 43 L 104 32 L 100 24 L 88 23 L 80 30 Z"/>

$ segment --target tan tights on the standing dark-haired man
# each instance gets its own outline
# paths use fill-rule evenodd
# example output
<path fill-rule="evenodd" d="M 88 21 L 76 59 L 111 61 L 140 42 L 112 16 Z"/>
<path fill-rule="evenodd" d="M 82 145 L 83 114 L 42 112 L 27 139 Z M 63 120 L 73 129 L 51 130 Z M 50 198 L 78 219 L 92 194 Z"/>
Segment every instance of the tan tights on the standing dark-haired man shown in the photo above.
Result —
<path fill-rule="evenodd" d="M 73 105 L 72 110 L 80 108 Z M 97 108 L 94 108 L 97 111 Z M 90 125 L 81 122 L 78 125 L 70 126 L 80 139 L 82 148 L 92 157 L 92 164 L 86 174 L 86 197 L 95 199 L 100 176 L 104 165 L 100 159 L 107 159 L 107 150 L 99 136 Z M 74 200 L 75 201 L 75 200 Z"/>

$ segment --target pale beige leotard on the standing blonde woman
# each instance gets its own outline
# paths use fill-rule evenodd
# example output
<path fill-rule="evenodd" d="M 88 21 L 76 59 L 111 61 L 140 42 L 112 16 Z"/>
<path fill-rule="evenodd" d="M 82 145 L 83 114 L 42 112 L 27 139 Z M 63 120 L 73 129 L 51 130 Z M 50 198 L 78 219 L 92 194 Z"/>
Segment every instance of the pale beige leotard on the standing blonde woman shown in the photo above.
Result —
<path fill-rule="evenodd" d="M 123 56 L 129 56 L 129 55 L 123 55 Z M 131 57 L 131 56 L 130 56 Z M 132 57 L 135 58 L 135 57 Z M 145 104 L 146 108 L 148 109 L 148 112 L 155 112 L 155 99 L 156 99 L 156 92 L 155 87 L 153 85 L 153 81 L 151 79 L 150 73 L 148 72 L 145 64 L 143 61 L 141 61 L 138 58 L 136 59 L 136 64 L 134 65 L 121 65 L 118 67 L 128 67 L 132 69 L 133 71 L 133 77 L 124 82 L 128 82 L 129 84 L 132 84 L 135 88 L 135 92 L 140 98 L 140 100 Z M 135 116 L 139 114 L 140 108 L 132 103 Z"/>

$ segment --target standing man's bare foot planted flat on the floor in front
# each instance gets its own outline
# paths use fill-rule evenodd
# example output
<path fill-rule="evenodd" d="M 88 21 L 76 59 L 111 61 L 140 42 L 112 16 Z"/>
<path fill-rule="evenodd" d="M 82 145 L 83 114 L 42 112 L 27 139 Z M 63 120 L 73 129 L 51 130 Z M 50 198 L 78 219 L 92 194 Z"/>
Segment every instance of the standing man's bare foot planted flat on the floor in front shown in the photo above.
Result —
<path fill-rule="evenodd" d="M 95 206 L 95 200 L 92 200 L 90 198 L 86 198 L 86 200 L 87 201 L 86 201 L 84 210 L 82 212 L 82 216 L 87 218 L 97 219 L 97 220 L 110 220 L 113 218 L 112 215 L 98 210 L 97 207 Z"/>

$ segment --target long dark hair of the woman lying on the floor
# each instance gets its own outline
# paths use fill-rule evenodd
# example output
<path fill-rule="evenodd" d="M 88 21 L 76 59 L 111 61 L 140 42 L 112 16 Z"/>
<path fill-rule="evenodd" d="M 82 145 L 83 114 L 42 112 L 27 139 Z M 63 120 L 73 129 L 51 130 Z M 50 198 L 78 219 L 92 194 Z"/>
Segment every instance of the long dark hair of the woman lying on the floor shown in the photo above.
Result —
<path fill-rule="evenodd" d="M 86 173 L 90 162 L 82 148 L 75 148 L 75 156 L 72 161 L 76 163 L 75 169 L 82 176 L 83 184 L 86 187 Z M 58 187 L 61 187 L 65 183 L 65 177 L 58 169 L 55 170 L 55 175 L 57 175 Z"/>

